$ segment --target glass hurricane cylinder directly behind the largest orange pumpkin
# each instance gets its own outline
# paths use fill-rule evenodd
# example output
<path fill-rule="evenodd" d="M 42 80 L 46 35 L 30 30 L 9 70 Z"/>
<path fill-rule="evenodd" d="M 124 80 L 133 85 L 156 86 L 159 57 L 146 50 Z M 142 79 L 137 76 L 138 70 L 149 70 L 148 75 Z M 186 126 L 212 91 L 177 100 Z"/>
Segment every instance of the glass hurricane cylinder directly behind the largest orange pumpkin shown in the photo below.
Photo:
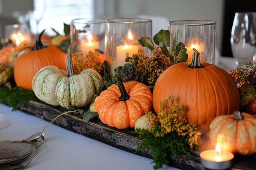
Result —
<path fill-rule="evenodd" d="M 168 22 L 171 34 L 170 52 L 178 42 L 187 49 L 188 62 L 192 60 L 193 48 L 201 53 L 201 62 L 215 63 L 216 22 L 209 20 L 175 20 Z"/>

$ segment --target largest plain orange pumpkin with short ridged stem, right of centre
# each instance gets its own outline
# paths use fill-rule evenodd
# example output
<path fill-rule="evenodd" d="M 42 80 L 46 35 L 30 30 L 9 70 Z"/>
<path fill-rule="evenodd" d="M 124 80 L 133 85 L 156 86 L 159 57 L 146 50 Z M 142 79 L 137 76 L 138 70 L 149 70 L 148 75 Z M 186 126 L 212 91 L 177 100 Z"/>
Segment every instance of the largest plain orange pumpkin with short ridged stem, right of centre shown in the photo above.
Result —
<path fill-rule="evenodd" d="M 233 113 L 239 108 L 239 92 L 232 77 L 223 69 L 209 63 L 200 63 L 195 49 L 191 64 L 180 62 L 167 68 L 157 79 L 153 91 L 153 107 L 168 96 L 187 106 L 189 121 L 196 121 L 200 130 L 209 130 L 211 121 L 219 115 Z"/>

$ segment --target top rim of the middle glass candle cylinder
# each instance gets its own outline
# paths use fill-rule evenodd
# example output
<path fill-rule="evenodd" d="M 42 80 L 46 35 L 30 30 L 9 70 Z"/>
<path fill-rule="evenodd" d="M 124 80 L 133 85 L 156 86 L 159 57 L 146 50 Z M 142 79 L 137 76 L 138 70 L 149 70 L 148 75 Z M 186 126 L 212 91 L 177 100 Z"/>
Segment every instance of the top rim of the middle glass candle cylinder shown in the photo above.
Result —
<path fill-rule="evenodd" d="M 107 22 L 120 23 L 120 24 L 137 24 L 137 23 L 152 22 L 152 20 L 147 18 L 112 18 L 107 20 Z"/>

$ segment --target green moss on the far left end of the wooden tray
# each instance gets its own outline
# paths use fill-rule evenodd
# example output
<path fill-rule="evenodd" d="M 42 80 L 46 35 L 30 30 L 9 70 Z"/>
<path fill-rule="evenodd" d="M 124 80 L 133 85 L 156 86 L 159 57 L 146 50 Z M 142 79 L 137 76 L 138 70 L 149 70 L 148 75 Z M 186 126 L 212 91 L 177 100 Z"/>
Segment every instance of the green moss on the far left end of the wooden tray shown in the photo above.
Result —
<path fill-rule="evenodd" d="M 7 103 L 9 107 L 13 107 L 12 110 L 17 110 L 19 104 L 24 104 L 29 100 L 37 100 L 33 91 L 18 86 L 12 88 L 0 87 L 0 103 Z"/>

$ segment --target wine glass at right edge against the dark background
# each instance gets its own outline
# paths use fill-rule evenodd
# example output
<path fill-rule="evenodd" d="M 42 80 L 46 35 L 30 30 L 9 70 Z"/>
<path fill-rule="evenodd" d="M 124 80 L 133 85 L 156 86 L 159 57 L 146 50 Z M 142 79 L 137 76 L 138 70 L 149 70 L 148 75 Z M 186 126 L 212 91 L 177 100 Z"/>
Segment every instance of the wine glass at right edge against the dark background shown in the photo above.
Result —
<path fill-rule="evenodd" d="M 236 12 L 230 42 L 236 66 L 244 66 L 256 52 L 256 13 Z"/>

